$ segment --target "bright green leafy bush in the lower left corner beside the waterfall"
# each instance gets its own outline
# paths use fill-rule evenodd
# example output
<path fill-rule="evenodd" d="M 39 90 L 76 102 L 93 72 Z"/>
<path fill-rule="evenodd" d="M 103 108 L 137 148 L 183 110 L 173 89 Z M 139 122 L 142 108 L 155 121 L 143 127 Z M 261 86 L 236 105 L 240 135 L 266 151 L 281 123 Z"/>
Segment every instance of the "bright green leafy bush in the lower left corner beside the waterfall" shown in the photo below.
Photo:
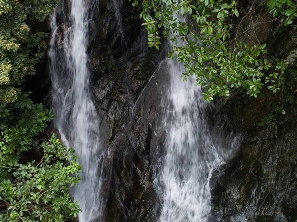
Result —
<path fill-rule="evenodd" d="M 22 164 L 15 153 L 20 147 L 28 149 L 33 140 L 25 137 L 21 146 L 14 130 L 6 129 L 0 136 L 0 221 L 64 222 L 76 217 L 79 206 L 68 192 L 68 184 L 77 185 L 80 179 L 74 150 L 67 150 L 53 135 L 41 145 L 40 161 Z M 23 127 L 22 132 L 29 133 Z"/>

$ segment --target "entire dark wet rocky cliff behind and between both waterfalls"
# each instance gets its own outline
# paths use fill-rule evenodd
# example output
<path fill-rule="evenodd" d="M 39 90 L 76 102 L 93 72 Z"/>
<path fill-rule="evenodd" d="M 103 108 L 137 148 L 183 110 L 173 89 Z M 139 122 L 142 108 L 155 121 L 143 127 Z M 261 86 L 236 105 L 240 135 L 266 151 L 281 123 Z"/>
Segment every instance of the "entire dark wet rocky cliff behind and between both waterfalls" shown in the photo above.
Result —
<path fill-rule="evenodd" d="M 59 44 L 68 28 L 71 2 L 61 4 Z M 242 21 L 246 30 L 252 30 L 261 44 L 267 43 L 274 56 L 296 59 L 296 28 L 284 30 L 267 11 L 258 13 Z M 87 15 L 91 88 L 106 147 L 101 163 L 101 196 L 106 204 L 100 220 L 105 222 L 155 221 L 161 209 L 152 175 L 158 171 L 166 137 L 158 123 L 163 109 L 160 95 L 169 81 L 162 63 L 167 52 L 165 47 L 148 49 L 138 15 L 139 8 L 128 0 L 91 0 Z M 249 29 L 251 24 L 254 27 Z M 243 41 L 256 41 L 246 38 L 253 33 L 240 35 Z M 206 111 L 212 135 L 226 151 L 230 138 L 241 138 L 238 152 L 214 174 L 210 221 L 297 220 L 297 74 L 296 67 L 291 69 L 277 95 L 264 91 L 255 99 L 234 91 L 228 99 L 217 98 L 215 107 Z M 44 73 L 40 81 L 50 86 L 49 74 Z M 47 104 L 49 97 L 43 100 Z M 280 112 L 276 107 L 282 107 Z"/>

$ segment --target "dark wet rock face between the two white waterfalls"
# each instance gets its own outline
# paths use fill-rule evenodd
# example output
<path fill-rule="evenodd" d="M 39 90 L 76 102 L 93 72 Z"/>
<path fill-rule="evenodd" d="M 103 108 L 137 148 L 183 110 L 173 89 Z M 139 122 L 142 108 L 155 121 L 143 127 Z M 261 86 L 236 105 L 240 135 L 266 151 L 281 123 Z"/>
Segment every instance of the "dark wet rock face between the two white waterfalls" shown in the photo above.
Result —
<path fill-rule="evenodd" d="M 158 160 L 155 149 L 161 149 L 165 138 L 156 123 L 162 109 L 159 94 L 168 80 L 164 70 L 155 70 L 165 51 L 148 50 L 139 11 L 128 0 L 117 3 L 91 2 L 88 34 L 93 101 L 106 147 L 101 166 L 102 221 L 149 222 L 160 206 L 152 166 Z M 102 72 L 108 50 L 116 65 Z"/>

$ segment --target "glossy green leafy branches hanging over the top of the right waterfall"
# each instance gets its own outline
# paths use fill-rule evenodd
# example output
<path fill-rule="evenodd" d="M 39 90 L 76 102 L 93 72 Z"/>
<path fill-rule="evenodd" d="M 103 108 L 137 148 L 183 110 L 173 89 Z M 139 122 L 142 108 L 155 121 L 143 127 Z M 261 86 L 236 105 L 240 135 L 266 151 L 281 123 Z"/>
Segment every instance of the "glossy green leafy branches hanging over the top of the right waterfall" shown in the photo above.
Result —
<path fill-rule="evenodd" d="M 216 94 L 229 96 L 230 88 L 239 87 L 247 89 L 250 96 L 257 97 L 263 82 L 274 93 L 280 90 L 287 64 L 283 60 L 271 64 L 266 55 L 266 45 L 248 45 L 239 40 L 240 24 L 233 25 L 232 21 L 240 16 L 243 19 L 246 15 L 239 14 L 238 1 L 133 0 L 133 5 L 140 1 L 143 6 L 140 18 L 148 31 L 149 46 L 159 49 L 159 32 L 162 30 L 173 44 L 169 57 L 177 58 L 184 64 L 184 80 L 190 75 L 196 76 L 197 85 L 206 88 L 203 92 L 205 100 L 213 100 Z M 271 1 L 279 3 L 269 3 Z M 292 10 L 296 9 L 296 1 L 269 2 L 271 10 L 276 7 L 289 16 L 289 20 L 295 17 Z M 274 13 L 274 10 L 271 12 Z M 285 25 L 290 23 L 289 20 Z M 236 30 L 234 27 L 237 27 Z M 267 76 L 268 71 L 270 74 Z"/>

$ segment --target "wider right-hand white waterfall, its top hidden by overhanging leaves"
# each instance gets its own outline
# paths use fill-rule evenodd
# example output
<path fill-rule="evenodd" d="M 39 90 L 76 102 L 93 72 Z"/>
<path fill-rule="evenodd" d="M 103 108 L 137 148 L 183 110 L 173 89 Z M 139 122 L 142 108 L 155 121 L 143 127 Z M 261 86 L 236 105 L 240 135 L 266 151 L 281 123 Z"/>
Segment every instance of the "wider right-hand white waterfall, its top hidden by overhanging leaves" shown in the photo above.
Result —
<path fill-rule="evenodd" d="M 177 44 L 185 43 L 178 40 Z M 163 104 L 166 154 L 155 179 L 163 200 L 159 222 L 207 222 L 211 210 L 210 178 L 223 160 L 203 118 L 208 104 L 203 101 L 201 87 L 195 86 L 191 76 L 182 81 L 182 64 L 172 59 L 166 62 L 171 78 Z"/>

